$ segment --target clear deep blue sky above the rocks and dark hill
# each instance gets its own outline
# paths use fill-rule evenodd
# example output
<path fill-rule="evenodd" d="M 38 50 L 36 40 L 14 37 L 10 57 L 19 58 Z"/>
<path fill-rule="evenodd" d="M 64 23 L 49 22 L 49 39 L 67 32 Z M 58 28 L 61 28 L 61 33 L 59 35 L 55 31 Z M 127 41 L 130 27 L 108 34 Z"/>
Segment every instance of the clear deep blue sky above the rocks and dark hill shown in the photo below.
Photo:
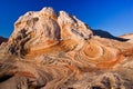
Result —
<path fill-rule="evenodd" d="M 133 0 L 0 0 L 0 36 L 9 37 L 20 16 L 43 7 L 64 10 L 114 36 L 133 32 Z"/>

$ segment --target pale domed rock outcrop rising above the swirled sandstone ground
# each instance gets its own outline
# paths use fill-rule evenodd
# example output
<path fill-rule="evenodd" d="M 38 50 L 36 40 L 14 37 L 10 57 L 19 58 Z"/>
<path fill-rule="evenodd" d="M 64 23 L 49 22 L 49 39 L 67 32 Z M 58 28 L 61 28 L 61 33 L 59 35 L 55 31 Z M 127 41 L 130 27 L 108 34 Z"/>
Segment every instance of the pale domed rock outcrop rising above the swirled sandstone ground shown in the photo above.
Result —
<path fill-rule="evenodd" d="M 9 39 L 16 55 L 25 55 L 29 50 L 40 50 L 61 40 L 89 39 L 92 31 L 85 23 L 64 11 L 54 12 L 52 8 L 30 11 L 14 23 L 14 31 Z"/>

